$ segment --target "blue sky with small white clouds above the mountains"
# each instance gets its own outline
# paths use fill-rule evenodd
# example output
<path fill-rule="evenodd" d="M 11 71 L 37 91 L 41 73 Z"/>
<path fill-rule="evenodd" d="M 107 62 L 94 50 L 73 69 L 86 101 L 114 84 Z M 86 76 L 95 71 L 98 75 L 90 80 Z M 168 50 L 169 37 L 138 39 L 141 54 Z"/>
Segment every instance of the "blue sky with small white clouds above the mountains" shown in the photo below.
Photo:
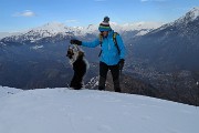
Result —
<path fill-rule="evenodd" d="M 100 23 L 105 16 L 117 23 L 170 22 L 199 0 L 0 0 L 0 32 L 22 31 L 48 22 L 66 25 Z"/>

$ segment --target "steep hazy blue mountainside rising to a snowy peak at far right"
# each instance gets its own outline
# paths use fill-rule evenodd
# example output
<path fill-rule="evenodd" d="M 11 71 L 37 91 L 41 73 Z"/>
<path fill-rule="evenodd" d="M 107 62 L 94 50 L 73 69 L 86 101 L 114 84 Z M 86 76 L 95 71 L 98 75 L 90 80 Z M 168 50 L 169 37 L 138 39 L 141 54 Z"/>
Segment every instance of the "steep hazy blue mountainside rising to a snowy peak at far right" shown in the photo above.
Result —
<path fill-rule="evenodd" d="M 176 21 L 129 40 L 133 53 L 160 70 L 198 70 L 199 8 Z"/>

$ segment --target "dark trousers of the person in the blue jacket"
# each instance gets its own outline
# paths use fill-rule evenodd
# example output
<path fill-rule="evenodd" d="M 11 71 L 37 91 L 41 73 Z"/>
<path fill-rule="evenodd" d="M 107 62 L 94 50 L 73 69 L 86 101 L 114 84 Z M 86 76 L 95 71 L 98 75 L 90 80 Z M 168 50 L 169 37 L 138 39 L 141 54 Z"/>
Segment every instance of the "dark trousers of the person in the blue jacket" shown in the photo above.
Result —
<path fill-rule="evenodd" d="M 104 62 L 100 62 L 100 83 L 98 90 L 105 90 L 106 76 L 107 72 L 111 70 L 113 82 L 114 82 L 114 90 L 115 92 L 121 92 L 119 85 L 119 65 L 107 65 Z"/>

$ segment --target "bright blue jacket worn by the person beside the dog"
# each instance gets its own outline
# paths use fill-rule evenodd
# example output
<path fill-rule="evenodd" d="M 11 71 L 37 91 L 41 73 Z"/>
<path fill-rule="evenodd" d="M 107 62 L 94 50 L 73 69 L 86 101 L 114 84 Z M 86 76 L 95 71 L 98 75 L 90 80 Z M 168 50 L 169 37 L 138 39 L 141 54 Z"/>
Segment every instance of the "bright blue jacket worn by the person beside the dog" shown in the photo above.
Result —
<path fill-rule="evenodd" d="M 113 40 L 114 31 L 108 32 L 108 37 L 103 39 L 102 42 L 102 53 L 100 57 L 100 61 L 106 63 L 107 65 L 115 65 L 119 62 L 121 59 L 125 59 L 126 49 L 123 43 L 121 35 L 116 35 L 117 45 L 119 48 L 121 54 L 118 54 L 118 50 Z M 93 42 L 82 42 L 83 47 L 95 48 L 100 45 L 100 38 L 95 39 Z"/>

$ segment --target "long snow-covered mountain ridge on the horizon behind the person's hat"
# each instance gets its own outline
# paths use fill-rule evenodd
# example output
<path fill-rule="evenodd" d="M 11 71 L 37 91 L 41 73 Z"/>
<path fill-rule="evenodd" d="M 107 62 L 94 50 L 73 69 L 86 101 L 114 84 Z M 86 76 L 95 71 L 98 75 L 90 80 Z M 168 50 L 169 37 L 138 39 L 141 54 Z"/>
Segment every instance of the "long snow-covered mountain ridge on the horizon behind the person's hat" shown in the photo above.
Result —
<path fill-rule="evenodd" d="M 127 31 L 137 31 L 137 35 L 145 34 L 153 29 L 160 27 L 163 23 L 158 22 L 136 22 L 136 23 L 125 23 L 117 24 L 111 23 L 113 30 L 119 33 Z M 60 22 L 46 23 L 44 25 L 33 28 L 21 32 L 17 35 L 11 35 L 3 38 L 1 42 L 36 42 L 44 38 L 54 38 L 57 35 L 64 37 L 85 37 L 86 34 L 98 34 L 98 25 L 88 24 L 87 27 L 66 27 Z"/>

